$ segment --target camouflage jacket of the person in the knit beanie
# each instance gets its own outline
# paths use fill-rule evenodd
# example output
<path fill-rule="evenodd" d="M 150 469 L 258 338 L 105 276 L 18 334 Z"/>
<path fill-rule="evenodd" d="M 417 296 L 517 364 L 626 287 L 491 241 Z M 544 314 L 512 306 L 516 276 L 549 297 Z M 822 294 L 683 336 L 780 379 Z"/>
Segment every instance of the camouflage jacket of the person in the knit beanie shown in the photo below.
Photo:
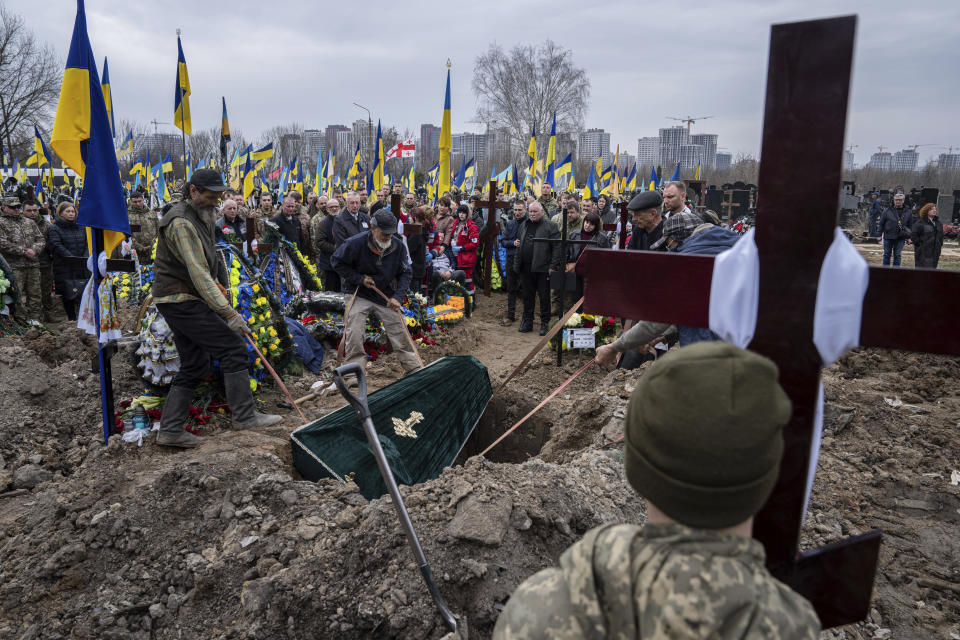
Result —
<path fill-rule="evenodd" d="M 517 588 L 496 640 L 815 640 L 809 602 L 753 539 L 678 524 L 604 525 Z"/>

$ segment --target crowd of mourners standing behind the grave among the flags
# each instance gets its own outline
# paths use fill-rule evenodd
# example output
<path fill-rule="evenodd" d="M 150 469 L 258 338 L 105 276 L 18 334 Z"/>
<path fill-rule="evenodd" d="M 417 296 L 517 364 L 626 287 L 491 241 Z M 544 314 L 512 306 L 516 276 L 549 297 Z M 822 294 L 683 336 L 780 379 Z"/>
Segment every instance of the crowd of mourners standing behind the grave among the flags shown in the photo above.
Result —
<path fill-rule="evenodd" d="M 393 193 L 399 192 L 399 185 L 395 185 Z M 239 193 L 227 190 L 219 207 L 216 236 L 227 242 L 244 243 L 247 227 L 252 225 L 256 246 L 270 241 L 273 229 L 263 223 L 270 220 L 317 266 L 324 289 L 341 291 L 342 283 L 331 257 L 346 239 L 369 229 L 371 216 L 390 207 L 390 196 L 391 190 L 386 187 L 372 197 L 363 188 L 338 190 L 329 197 L 309 192 L 305 198 L 296 191 L 283 195 L 264 191 L 244 201 Z M 485 250 L 487 219 L 480 202 L 484 197 L 479 187 L 471 192 L 445 192 L 435 202 L 427 202 L 423 193 L 402 195 L 400 210 L 393 213 L 409 255 L 412 290 L 428 293 L 447 280 L 460 283 L 471 293 L 482 286 L 479 267 Z M 678 250 L 682 240 L 668 244 L 670 239 L 663 237 L 665 223 L 676 214 L 693 216 L 678 219 L 686 220 L 687 226 L 694 218 L 702 224 L 721 224 L 713 211 L 691 212 L 683 182 L 668 182 L 660 192 L 624 194 L 616 200 L 606 195 L 581 198 L 577 193 L 558 194 L 547 184 L 541 187 L 539 197 L 514 197 L 508 208 L 497 212 L 499 246 L 493 247 L 494 268 L 507 292 L 503 324 L 515 323 L 519 315 L 518 330 L 533 331 L 535 316 L 539 315 L 540 334 L 546 333 L 551 319 L 562 315 L 561 302 L 579 297 L 567 294 L 561 300 L 559 289 L 564 285 L 553 274 L 566 274 L 563 277 L 572 283 L 566 286 L 567 290 L 582 291 L 582 279 L 573 275 L 577 259 L 589 246 L 617 246 L 621 233 L 619 203 L 635 197 L 641 200 L 630 206 L 630 219 L 623 231 L 627 234 L 627 249 Z M 661 204 L 646 206 L 657 198 L 662 198 Z M 54 293 L 67 319 L 75 320 L 89 277 L 83 266 L 68 260 L 84 257 L 87 251 L 85 231 L 76 224 L 79 197 L 65 193 L 56 198 L 56 204 L 53 200 L 38 202 L 28 190 L 26 195 L 8 195 L 0 201 L 0 255 L 21 292 L 21 315 L 37 322 L 55 320 Z M 168 204 L 164 209 L 169 207 Z M 565 256 L 561 255 L 559 243 L 564 212 L 570 241 Z M 128 215 L 134 231 L 123 252 L 127 256 L 135 252 L 141 264 L 149 264 L 162 209 L 151 209 L 146 194 L 135 191 L 129 195 Z M 911 207 L 903 191 L 897 190 L 885 206 L 874 193 L 868 215 L 870 235 L 883 243 L 884 265 L 900 266 L 901 253 L 909 242 L 917 267 L 937 268 L 944 230 L 936 205 Z M 411 234 L 404 231 L 404 226 L 419 231 Z M 476 303 L 476 296 L 473 300 Z"/>

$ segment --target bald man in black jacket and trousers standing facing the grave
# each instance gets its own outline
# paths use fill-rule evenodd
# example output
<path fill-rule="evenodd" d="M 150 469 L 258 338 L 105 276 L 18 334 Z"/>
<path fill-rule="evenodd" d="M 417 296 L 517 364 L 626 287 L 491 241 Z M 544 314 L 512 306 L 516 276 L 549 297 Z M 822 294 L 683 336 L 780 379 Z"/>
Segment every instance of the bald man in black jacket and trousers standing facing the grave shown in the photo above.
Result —
<path fill-rule="evenodd" d="M 546 238 L 556 242 L 534 242 Z M 550 325 L 550 274 L 560 268 L 560 230 L 544 217 L 543 205 L 532 202 L 527 219 L 520 223 L 517 239 L 513 242 L 517 253 L 513 269 L 520 275 L 523 288 L 523 318 L 517 331 L 533 331 L 533 308 L 540 296 L 540 335 L 546 335 Z"/>

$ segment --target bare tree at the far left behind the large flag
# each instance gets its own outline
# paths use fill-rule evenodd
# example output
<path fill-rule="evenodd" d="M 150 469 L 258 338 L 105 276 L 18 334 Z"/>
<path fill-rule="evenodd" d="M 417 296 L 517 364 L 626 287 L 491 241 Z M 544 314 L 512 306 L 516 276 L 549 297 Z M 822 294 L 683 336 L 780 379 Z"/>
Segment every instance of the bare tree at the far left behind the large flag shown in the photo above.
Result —
<path fill-rule="evenodd" d="M 48 128 L 62 75 L 53 49 L 0 4 L 0 140 L 12 153 L 27 152 L 31 125 Z"/>

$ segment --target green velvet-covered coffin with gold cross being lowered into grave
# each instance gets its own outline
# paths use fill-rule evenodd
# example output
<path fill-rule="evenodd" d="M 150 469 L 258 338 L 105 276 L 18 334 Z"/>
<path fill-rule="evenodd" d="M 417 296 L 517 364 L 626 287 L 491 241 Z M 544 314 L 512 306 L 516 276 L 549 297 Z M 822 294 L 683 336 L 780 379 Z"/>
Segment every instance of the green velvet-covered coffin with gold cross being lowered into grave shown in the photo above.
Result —
<path fill-rule="evenodd" d="M 450 466 L 480 421 L 493 391 L 487 368 L 473 356 L 447 356 L 368 397 L 397 484 L 417 484 Z M 307 480 L 353 480 L 368 499 L 387 492 L 350 405 L 304 425 L 291 436 L 293 464 Z"/>

